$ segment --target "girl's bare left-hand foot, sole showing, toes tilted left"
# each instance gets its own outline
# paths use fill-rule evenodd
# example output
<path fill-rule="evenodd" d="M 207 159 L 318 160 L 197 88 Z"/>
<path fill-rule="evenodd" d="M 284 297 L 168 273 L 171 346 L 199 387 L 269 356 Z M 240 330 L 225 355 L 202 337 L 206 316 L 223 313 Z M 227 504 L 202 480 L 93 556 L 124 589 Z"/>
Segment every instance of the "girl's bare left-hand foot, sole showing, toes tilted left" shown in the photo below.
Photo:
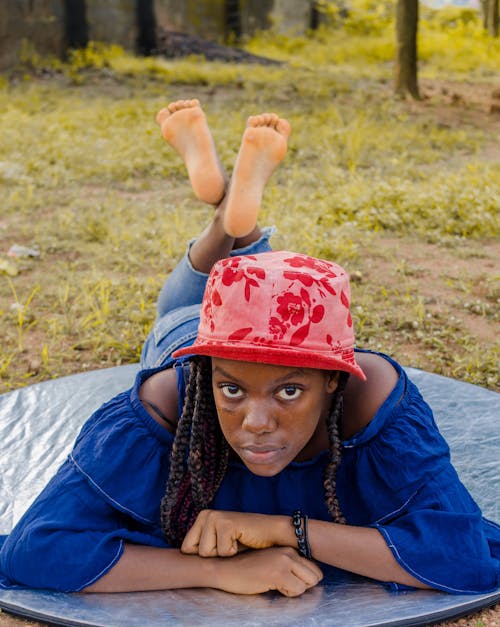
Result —
<path fill-rule="evenodd" d="M 171 102 L 156 121 L 163 137 L 184 160 L 196 196 L 217 205 L 224 197 L 226 177 L 199 101 Z"/>

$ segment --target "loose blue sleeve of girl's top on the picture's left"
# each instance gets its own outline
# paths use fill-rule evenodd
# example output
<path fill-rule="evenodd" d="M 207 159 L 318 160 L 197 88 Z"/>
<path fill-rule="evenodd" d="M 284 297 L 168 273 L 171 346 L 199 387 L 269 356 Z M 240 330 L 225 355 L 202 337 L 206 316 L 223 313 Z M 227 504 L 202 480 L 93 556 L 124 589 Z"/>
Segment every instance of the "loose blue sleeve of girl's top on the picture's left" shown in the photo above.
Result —
<path fill-rule="evenodd" d="M 3 585 L 78 592 L 120 559 L 126 527 L 68 461 L 7 537 Z"/>

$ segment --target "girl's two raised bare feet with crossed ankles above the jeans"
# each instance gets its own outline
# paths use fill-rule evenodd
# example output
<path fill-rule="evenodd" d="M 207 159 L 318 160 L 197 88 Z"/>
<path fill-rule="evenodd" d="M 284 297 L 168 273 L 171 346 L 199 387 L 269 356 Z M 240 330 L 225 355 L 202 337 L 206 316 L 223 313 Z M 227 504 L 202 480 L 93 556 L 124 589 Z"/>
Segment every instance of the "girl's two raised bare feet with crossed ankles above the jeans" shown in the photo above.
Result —
<path fill-rule="evenodd" d="M 178 100 L 162 109 L 157 122 L 181 156 L 196 196 L 215 206 L 212 222 L 190 249 L 193 267 L 204 273 L 261 236 L 257 225 L 264 188 L 287 151 L 290 124 L 275 113 L 248 118 L 228 181 L 198 100 Z"/>

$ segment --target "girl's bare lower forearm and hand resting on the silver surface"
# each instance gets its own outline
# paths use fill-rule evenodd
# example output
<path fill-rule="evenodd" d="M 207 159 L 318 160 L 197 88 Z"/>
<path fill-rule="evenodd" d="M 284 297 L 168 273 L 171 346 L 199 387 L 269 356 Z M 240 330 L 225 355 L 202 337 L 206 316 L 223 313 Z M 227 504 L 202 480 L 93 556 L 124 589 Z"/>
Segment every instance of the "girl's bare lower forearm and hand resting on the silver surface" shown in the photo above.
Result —
<path fill-rule="evenodd" d="M 237 594 L 278 590 L 297 596 L 322 578 L 320 569 L 285 548 L 248 551 L 233 558 L 184 555 L 177 549 L 126 545 L 117 564 L 84 592 L 217 588 Z"/>

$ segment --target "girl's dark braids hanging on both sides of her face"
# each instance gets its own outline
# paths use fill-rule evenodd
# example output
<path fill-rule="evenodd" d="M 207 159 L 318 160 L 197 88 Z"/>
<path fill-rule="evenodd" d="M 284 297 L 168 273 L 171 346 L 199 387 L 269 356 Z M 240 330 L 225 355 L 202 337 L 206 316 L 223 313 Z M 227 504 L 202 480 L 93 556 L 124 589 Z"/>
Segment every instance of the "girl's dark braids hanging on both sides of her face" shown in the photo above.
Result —
<path fill-rule="evenodd" d="M 349 374 L 341 372 L 327 418 L 330 454 L 324 473 L 325 502 L 334 522 L 345 523 L 336 494 L 341 458 L 343 392 Z M 179 547 L 202 509 L 209 507 L 226 473 L 229 445 L 222 434 L 212 391 L 211 361 L 191 361 L 189 382 L 177 425 L 166 494 L 161 502 L 162 529 Z"/>

